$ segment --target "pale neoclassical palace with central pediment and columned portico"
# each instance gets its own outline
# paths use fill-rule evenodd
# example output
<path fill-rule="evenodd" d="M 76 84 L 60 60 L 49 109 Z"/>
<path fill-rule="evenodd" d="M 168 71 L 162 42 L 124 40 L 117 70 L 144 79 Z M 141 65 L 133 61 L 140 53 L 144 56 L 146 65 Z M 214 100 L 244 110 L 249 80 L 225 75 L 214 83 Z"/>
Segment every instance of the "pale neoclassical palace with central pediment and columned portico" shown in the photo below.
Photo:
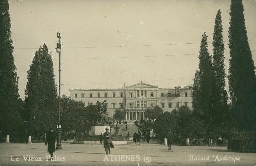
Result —
<path fill-rule="evenodd" d="M 113 116 L 116 109 L 124 109 L 128 122 L 144 119 L 144 111 L 155 106 L 160 106 L 164 111 L 169 112 L 183 105 L 192 109 L 191 86 L 158 88 L 140 82 L 122 86 L 121 89 L 70 89 L 69 91 L 72 99 L 82 100 L 86 106 L 106 99 L 109 116 Z"/>

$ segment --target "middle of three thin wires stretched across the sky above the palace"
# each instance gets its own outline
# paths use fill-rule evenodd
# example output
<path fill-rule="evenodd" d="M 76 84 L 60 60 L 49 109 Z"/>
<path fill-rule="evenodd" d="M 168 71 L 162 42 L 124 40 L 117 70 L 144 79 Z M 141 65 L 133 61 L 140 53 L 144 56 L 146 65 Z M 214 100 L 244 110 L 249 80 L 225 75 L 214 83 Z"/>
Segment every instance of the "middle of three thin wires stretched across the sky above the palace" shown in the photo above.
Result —
<path fill-rule="evenodd" d="M 251 50 L 251 51 L 256 51 L 256 50 Z M 213 52 L 209 53 L 212 54 Z M 229 52 L 224 52 L 224 53 L 229 53 Z M 100 57 L 100 58 L 73 58 L 73 59 L 61 59 L 61 60 L 83 60 L 83 59 L 121 59 L 121 58 L 148 58 L 148 57 L 165 57 L 165 56 L 186 56 L 186 55 L 199 55 L 199 53 L 194 53 L 194 54 L 173 54 L 173 55 L 153 55 L 153 56 L 126 56 L 126 57 Z M 17 60 L 33 60 L 33 59 L 14 59 L 15 61 Z"/>

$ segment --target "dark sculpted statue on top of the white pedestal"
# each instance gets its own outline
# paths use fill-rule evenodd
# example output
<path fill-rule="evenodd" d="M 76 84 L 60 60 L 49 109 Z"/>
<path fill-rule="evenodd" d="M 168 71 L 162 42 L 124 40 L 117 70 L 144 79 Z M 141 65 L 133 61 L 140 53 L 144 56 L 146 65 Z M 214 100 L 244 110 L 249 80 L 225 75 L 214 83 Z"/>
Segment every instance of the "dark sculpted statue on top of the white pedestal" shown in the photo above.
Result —
<path fill-rule="evenodd" d="M 102 103 L 97 101 L 97 121 L 94 123 L 95 126 L 106 126 L 109 124 L 107 105 L 104 104 L 106 101 L 106 99 Z"/>

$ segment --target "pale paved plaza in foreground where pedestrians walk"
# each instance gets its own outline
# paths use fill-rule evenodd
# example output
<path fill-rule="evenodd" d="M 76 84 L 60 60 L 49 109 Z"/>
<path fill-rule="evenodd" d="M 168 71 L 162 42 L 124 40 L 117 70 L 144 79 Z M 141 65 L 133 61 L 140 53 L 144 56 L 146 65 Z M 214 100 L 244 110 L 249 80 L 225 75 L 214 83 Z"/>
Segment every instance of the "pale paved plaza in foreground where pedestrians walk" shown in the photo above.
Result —
<path fill-rule="evenodd" d="M 72 144 L 63 142 L 62 150 L 56 150 L 56 161 L 46 161 L 47 146 L 44 143 L 0 143 L 0 165 L 250 165 L 256 164 L 256 153 L 236 153 L 227 147 L 168 146 L 155 143 L 116 145 L 111 154 L 105 155 L 103 145 Z M 12 156 L 12 157 L 11 157 Z M 25 159 L 24 157 L 25 156 Z M 28 156 L 28 157 L 27 157 Z M 19 161 L 11 161 L 19 158 Z M 28 161 L 35 157 L 42 161 Z M 209 157 L 209 158 L 207 158 Z M 200 158 L 200 160 L 198 160 Z M 65 161 L 63 161 L 65 159 Z M 223 159 L 225 161 L 223 161 Z M 233 161 L 232 161 L 233 159 Z M 32 159 L 35 160 L 35 159 Z M 57 161 L 62 160 L 62 161 Z M 235 161 L 237 160 L 237 161 Z M 239 161 L 238 161 L 239 160 Z"/>

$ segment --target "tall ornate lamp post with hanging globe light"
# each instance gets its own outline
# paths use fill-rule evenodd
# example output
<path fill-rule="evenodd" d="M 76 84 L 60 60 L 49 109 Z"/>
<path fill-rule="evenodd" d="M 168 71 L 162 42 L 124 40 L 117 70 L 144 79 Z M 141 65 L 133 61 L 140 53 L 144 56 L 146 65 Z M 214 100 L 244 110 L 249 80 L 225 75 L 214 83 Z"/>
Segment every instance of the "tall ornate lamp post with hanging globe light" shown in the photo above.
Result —
<path fill-rule="evenodd" d="M 61 125 L 60 125 L 60 110 L 61 110 L 61 35 L 60 32 L 57 32 L 57 38 L 59 42 L 57 42 L 57 47 L 55 48 L 56 52 L 59 53 L 59 123 L 57 125 L 57 144 L 56 150 L 62 149 L 61 147 Z"/>

